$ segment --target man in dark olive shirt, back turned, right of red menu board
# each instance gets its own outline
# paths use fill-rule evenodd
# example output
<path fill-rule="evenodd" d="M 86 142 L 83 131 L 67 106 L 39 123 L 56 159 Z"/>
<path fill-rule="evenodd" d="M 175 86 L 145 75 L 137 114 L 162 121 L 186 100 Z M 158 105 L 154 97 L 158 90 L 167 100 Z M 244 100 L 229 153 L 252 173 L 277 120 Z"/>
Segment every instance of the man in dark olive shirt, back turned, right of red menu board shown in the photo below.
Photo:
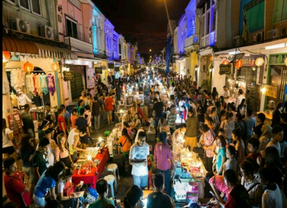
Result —
<path fill-rule="evenodd" d="M 24 132 L 30 134 L 34 147 L 36 147 L 34 122 L 29 111 L 30 111 L 30 105 L 25 104 L 24 110 L 22 110 L 20 113 L 20 117 L 23 122 Z"/>

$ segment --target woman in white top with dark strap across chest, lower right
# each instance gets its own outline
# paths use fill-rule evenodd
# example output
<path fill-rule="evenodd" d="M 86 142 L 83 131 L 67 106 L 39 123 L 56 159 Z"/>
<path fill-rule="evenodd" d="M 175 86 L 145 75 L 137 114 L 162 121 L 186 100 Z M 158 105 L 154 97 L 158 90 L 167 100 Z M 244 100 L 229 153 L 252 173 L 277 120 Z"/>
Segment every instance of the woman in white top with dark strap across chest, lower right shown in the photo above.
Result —
<path fill-rule="evenodd" d="M 239 166 L 242 176 L 241 185 L 248 191 L 252 207 L 261 207 L 263 189 L 254 176 L 253 164 L 248 160 L 244 160 Z"/>

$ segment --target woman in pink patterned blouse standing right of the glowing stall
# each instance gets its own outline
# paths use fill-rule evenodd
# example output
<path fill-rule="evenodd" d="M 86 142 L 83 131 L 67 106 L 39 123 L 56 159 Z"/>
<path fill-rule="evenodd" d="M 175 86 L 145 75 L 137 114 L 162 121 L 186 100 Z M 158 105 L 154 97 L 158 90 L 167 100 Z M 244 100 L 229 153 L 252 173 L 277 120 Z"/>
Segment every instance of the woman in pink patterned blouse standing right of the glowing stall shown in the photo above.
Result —
<path fill-rule="evenodd" d="M 203 134 L 203 140 L 200 142 L 205 150 L 206 160 L 205 160 L 205 168 L 207 171 L 212 171 L 212 143 L 215 139 L 215 133 L 212 131 L 206 124 L 201 125 L 200 132 Z"/>

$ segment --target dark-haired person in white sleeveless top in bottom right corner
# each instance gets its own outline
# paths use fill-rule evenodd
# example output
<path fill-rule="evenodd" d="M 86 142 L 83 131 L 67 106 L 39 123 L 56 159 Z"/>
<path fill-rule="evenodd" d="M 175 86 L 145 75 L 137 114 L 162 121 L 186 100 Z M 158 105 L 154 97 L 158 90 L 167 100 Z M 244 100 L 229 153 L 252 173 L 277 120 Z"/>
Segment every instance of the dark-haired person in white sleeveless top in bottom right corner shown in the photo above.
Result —
<path fill-rule="evenodd" d="M 262 195 L 262 208 L 282 208 L 282 193 L 279 186 L 273 182 L 273 170 L 271 168 L 260 168 L 257 176 L 258 181 L 265 186 Z"/>

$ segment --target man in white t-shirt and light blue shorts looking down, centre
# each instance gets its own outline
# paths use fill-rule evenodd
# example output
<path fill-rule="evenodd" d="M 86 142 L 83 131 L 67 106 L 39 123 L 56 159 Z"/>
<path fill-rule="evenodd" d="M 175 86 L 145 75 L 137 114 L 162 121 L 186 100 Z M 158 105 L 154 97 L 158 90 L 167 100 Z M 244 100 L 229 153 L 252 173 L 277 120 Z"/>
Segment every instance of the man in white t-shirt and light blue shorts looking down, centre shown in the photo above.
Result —
<path fill-rule="evenodd" d="M 148 186 L 148 155 L 149 145 L 146 143 L 146 133 L 140 132 L 138 141 L 130 148 L 130 165 L 134 184 L 139 188 Z"/>

